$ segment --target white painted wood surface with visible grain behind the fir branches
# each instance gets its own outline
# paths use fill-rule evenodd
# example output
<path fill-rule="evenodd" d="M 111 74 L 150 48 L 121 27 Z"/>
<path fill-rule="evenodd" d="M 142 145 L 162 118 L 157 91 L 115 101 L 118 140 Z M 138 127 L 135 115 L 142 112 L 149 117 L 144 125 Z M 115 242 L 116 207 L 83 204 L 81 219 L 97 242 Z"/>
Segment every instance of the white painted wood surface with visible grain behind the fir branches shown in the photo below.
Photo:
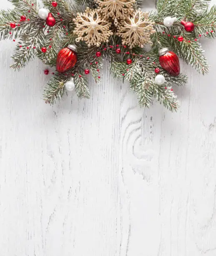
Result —
<path fill-rule="evenodd" d="M 107 67 L 90 100 L 50 108 L 45 66 L 14 72 L 0 42 L 0 256 L 216 255 L 216 41 L 203 47 L 211 72 L 184 65 L 170 113 Z"/>

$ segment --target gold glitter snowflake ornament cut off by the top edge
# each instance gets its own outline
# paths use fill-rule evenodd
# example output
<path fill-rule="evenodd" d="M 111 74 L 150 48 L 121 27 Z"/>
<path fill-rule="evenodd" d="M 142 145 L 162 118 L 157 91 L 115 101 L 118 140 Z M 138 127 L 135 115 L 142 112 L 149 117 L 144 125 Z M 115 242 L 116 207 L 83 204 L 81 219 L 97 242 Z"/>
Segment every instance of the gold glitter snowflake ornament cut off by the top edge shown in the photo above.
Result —
<path fill-rule="evenodd" d="M 105 18 L 124 19 L 133 13 L 135 0 L 95 0 Z"/>

